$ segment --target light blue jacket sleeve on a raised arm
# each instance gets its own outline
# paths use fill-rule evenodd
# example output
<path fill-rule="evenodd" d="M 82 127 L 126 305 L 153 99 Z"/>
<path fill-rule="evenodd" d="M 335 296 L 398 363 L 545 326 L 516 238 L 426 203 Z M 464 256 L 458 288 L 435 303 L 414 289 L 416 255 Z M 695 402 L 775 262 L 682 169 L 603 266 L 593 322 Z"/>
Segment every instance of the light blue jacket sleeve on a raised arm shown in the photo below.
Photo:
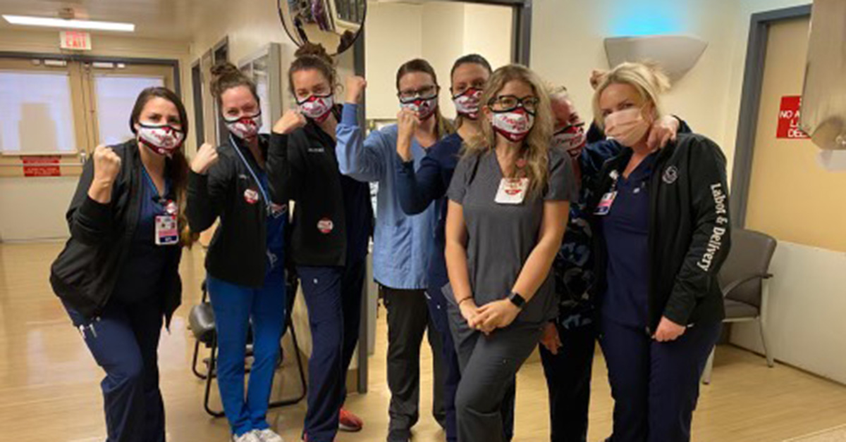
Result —
<path fill-rule="evenodd" d="M 338 145 L 335 148 L 338 167 L 341 173 L 357 181 L 379 181 L 387 168 L 387 160 L 393 160 L 393 156 L 383 155 L 390 146 L 387 146 L 379 131 L 373 131 L 366 140 L 362 141 L 356 112 L 358 112 L 358 105 L 349 103 L 343 105 L 341 123 L 338 123 L 335 131 L 338 138 Z"/>

